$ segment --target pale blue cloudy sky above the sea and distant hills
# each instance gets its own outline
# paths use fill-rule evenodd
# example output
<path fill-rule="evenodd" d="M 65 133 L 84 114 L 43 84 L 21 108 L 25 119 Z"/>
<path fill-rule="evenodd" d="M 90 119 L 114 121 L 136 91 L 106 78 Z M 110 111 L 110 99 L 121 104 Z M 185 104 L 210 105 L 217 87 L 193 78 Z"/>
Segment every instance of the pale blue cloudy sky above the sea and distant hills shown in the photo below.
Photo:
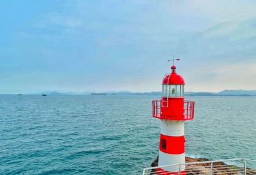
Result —
<path fill-rule="evenodd" d="M 0 93 L 256 89 L 256 1 L 0 3 Z"/>

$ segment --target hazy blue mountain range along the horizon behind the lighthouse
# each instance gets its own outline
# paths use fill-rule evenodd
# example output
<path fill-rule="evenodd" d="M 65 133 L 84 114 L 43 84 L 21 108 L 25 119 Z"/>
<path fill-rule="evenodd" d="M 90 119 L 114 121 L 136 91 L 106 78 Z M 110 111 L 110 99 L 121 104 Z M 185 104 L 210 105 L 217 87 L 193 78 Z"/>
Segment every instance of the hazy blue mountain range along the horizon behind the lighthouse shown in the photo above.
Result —
<path fill-rule="evenodd" d="M 160 91 L 152 91 L 152 92 L 131 92 L 131 91 L 107 91 L 102 93 L 95 92 L 87 92 L 84 91 L 82 93 L 75 92 L 59 92 L 59 91 L 44 91 L 40 93 L 33 93 L 33 95 L 156 95 L 161 96 Z M 256 96 L 256 90 L 224 90 L 218 93 L 212 92 L 185 92 L 185 96 Z"/>

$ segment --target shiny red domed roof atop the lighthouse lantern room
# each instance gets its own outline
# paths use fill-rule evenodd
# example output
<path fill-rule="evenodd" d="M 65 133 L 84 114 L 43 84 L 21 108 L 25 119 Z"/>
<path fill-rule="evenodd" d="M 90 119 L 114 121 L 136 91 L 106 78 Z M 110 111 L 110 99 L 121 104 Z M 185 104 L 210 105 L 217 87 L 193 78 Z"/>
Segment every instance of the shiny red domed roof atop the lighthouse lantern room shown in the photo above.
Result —
<path fill-rule="evenodd" d="M 176 73 L 176 67 L 171 67 L 172 73 L 166 74 L 163 79 L 163 84 L 185 84 L 183 77 Z"/>

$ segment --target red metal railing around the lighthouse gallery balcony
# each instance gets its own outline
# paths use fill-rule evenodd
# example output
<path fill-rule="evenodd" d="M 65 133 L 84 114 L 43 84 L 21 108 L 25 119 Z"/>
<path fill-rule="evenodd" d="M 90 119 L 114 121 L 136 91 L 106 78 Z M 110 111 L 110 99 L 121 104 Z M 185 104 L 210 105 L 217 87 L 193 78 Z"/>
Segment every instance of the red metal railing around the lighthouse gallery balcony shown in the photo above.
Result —
<path fill-rule="evenodd" d="M 152 105 L 153 105 L 152 115 L 154 118 L 175 119 L 175 117 L 173 116 L 168 117 L 162 114 L 162 106 L 163 106 L 162 100 L 153 100 Z M 194 107 L 195 107 L 195 102 L 184 101 L 184 120 L 194 119 Z"/>

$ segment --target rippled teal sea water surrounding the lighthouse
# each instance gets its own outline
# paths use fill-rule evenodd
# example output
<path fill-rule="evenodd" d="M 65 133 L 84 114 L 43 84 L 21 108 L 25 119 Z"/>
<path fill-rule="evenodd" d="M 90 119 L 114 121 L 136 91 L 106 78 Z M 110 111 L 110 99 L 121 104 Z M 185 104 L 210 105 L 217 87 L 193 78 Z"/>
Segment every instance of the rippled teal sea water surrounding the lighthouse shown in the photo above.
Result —
<path fill-rule="evenodd" d="M 157 98 L 0 95 L 0 174 L 141 174 L 157 156 Z M 186 155 L 255 159 L 255 97 L 186 99 Z"/>

